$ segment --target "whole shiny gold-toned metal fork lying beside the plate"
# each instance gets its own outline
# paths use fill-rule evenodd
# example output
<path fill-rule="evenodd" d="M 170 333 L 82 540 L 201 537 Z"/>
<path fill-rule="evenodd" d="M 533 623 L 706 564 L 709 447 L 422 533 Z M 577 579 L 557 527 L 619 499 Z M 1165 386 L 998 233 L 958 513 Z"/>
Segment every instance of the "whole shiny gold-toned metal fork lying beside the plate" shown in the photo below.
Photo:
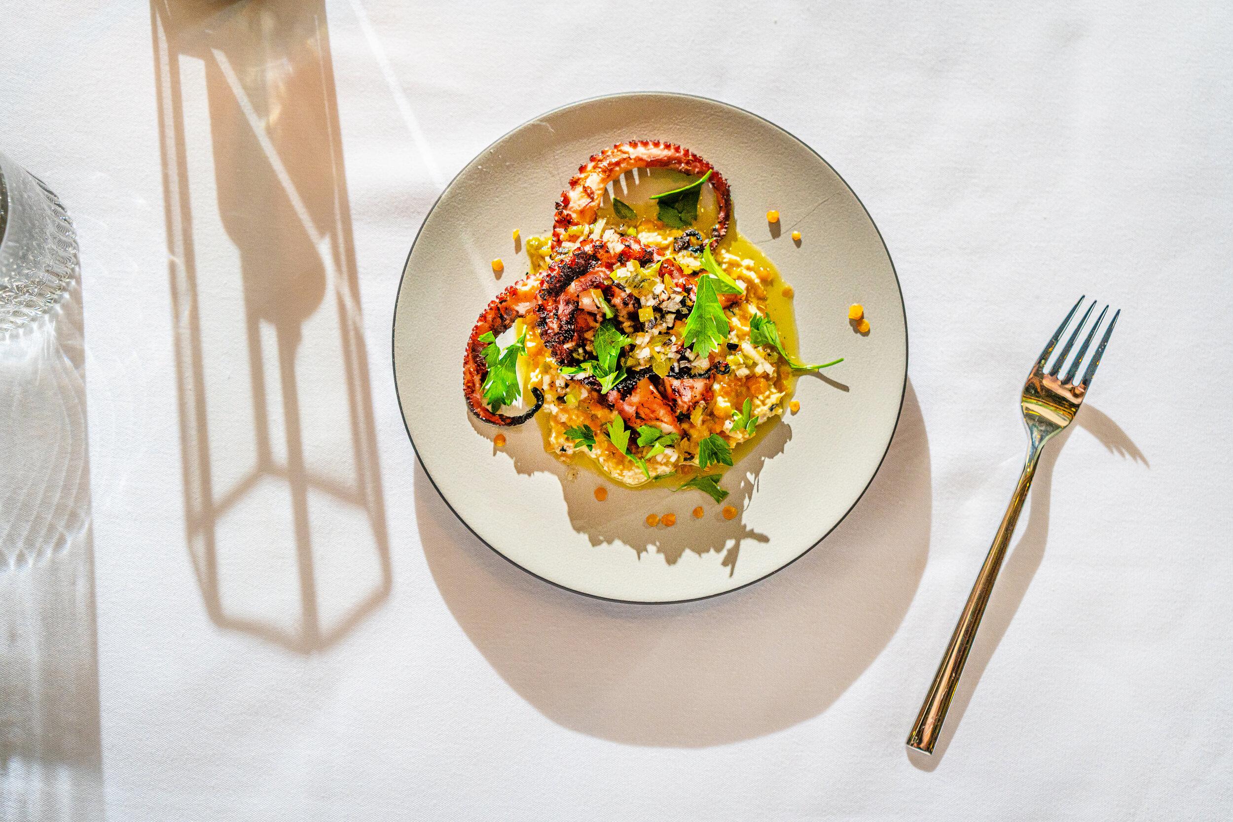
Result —
<path fill-rule="evenodd" d="M 909 748 L 930 754 L 933 753 L 933 746 L 937 744 L 938 735 L 942 732 L 942 722 L 946 720 L 946 712 L 951 707 L 951 699 L 954 696 L 954 689 L 959 684 L 959 674 L 963 673 L 963 664 L 968 661 L 972 641 L 977 637 L 977 630 L 980 627 L 980 617 L 984 616 L 985 605 L 989 604 L 989 595 L 993 593 L 994 582 L 997 579 L 997 571 L 1001 568 L 1002 560 L 1006 556 L 1010 537 L 1015 532 L 1015 523 L 1018 521 L 1018 513 L 1023 509 L 1023 502 L 1027 499 L 1027 489 L 1032 486 L 1032 476 L 1036 474 L 1036 463 L 1041 458 L 1041 450 L 1054 434 L 1074 420 L 1075 413 L 1079 410 L 1079 405 L 1083 404 L 1084 396 L 1091 386 L 1091 377 L 1096 373 L 1100 357 L 1105 354 L 1105 346 L 1108 345 L 1108 338 L 1113 334 L 1113 327 L 1117 325 L 1117 318 L 1122 313 L 1121 309 L 1113 313 L 1113 319 L 1110 320 L 1108 328 L 1105 329 L 1105 335 L 1101 338 L 1100 345 L 1096 346 L 1096 352 L 1092 354 L 1091 360 L 1088 362 L 1088 370 L 1084 371 L 1083 378 L 1079 382 L 1074 382 L 1075 375 L 1079 373 L 1079 366 L 1083 365 L 1084 355 L 1088 352 L 1088 346 L 1091 345 L 1092 339 L 1096 336 L 1096 330 L 1100 328 L 1101 322 L 1105 319 L 1105 313 L 1108 311 L 1108 306 L 1105 306 L 1100 312 L 1100 317 L 1092 324 L 1091 330 L 1088 332 L 1083 345 L 1075 352 L 1070 367 L 1059 378 L 1058 372 L 1065 365 L 1067 357 L 1070 355 L 1070 349 L 1074 348 L 1075 340 L 1079 339 L 1079 333 L 1088 323 L 1092 308 L 1096 307 L 1096 301 L 1092 301 L 1088 311 L 1084 312 L 1083 319 L 1079 320 L 1074 333 L 1070 334 L 1070 339 L 1067 340 L 1067 344 L 1062 346 L 1062 351 L 1054 359 L 1053 367 L 1046 371 L 1044 366 L 1049 361 L 1049 355 L 1053 354 L 1058 340 L 1062 339 L 1062 334 L 1074 318 L 1075 312 L 1083 304 L 1083 301 L 1084 297 L 1080 297 L 1079 302 L 1070 309 L 1070 313 L 1067 314 L 1067 318 L 1062 320 L 1062 325 L 1058 327 L 1049 344 L 1044 346 L 1041 357 L 1032 367 L 1032 372 L 1027 375 L 1027 383 L 1023 386 L 1021 399 L 1023 424 L 1027 426 L 1028 439 L 1023 473 L 1020 476 L 1018 486 L 1010 498 L 1010 507 L 1006 509 L 1006 515 L 1002 516 L 1001 526 L 997 529 L 997 536 L 994 537 L 993 547 L 989 548 L 985 564 L 981 566 L 977 583 L 972 587 L 972 594 L 968 595 L 968 604 L 963 606 L 963 614 L 959 615 L 959 624 L 954 626 L 954 633 L 951 635 L 951 645 L 947 646 L 946 653 L 942 654 L 942 663 L 937 667 L 937 674 L 933 675 L 933 684 L 930 685 L 928 694 L 925 696 L 925 704 L 921 705 L 920 714 L 916 715 L 916 722 L 912 725 L 912 731 L 907 735 Z"/>

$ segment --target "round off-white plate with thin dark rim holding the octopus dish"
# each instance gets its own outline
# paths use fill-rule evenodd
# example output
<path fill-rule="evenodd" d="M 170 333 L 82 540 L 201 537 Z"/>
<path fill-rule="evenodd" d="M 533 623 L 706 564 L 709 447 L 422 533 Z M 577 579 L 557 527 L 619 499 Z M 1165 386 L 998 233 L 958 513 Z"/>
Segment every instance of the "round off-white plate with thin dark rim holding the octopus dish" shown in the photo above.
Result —
<path fill-rule="evenodd" d="M 526 272 L 510 233 L 545 233 L 566 181 L 629 139 L 679 143 L 732 187 L 735 228 L 795 288 L 800 356 L 845 357 L 797 382 L 800 412 L 776 423 L 725 474 L 725 520 L 709 497 L 630 490 L 544 451 L 540 428 L 498 429 L 462 398 L 462 351 L 480 312 Z M 772 227 L 766 212 L 778 210 Z M 772 230 L 774 229 L 774 230 Z M 801 233 L 797 246 L 790 234 Z M 493 276 L 491 261 L 506 261 Z M 862 303 L 867 336 L 847 320 Z M 398 401 L 416 452 L 455 514 L 488 546 L 571 590 L 637 603 L 714 596 L 756 582 L 816 545 L 852 509 L 887 454 L 907 377 L 899 280 L 861 201 L 813 149 L 741 108 L 676 94 L 577 102 L 509 132 L 441 193 L 412 245 L 393 322 Z M 493 446 L 498 434 L 508 437 Z M 597 486 L 609 489 L 597 502 Z M 705 515 L 690 511 L 702 505 Z M 673 527 L 649 527 L 673 511 Z"/>

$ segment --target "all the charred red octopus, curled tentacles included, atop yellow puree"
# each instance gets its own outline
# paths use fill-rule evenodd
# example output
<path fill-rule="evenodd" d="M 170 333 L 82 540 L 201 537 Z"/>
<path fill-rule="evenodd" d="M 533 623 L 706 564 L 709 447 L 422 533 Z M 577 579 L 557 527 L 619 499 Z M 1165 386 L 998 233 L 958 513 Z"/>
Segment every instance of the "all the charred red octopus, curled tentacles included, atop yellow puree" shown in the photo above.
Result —
<path fill-rule="evenodd" d="M 625 171 L 639 168 L 671 168 L 695 176 L 710 171 L 708 182 L 719 203 L 715 228 L 709 239 L 695 229 L 687 230 L 677 240 L 676 250 L 700 253 L 704 244 L 714 248 L 727 233 L 732 208 L 727 181 L 693 152 L 673 143 L 633 140 L 593 155 L 578 168 L 578 174 L 570 180 L 556 205 L 550 243 L 552 262 L 544 271 L 528 274 L 502 291 L 471 329 L 462 360 L 462 392 L 467 407 L 478 419 L 492 425 L 520 425 L 544 404 L 539 388 L 531 388 L 535 404 L 518 415 L 501 414 L 485 404 L 483 383 L 488 365 L 483 351 L 488 343 L 480 339 L 485 334 L 491 332 L 493 336 L 499 336 L 519 318 L 534 322 L 550 356 L 565 366 L 586 359 L 588 340 L 603 319 L 594 292 L 600 293 L 613 308 L 618 323 L 629 325 L 636 318 L 639 298 L 614 282 L 612 272 L 630 262 L 644 267 L 653 265 L 661 261 L 661 254 L 635 237 L 609 242 L 592 238 L 566 248 L 562 244 L 571 228 L 594 222 L 607 185 Z M 683 279 L 682 285 L 693 299 L 697 274 L 687 275 L 673 260 L 662 259 L 660 275 Z M 723 367 L 726 370 L 726 365 Z M 689 375 L 687 380 L 676 373 L 671 378 L 660 378 L 653 373 L 637 373 L 637 378 L 630 375 L 608 392 L 602 392 L 599 381 L 591 375 L 581 373 L 573 378 L 603 394 L 630 424 L 653 424 L 665 431 L 679 433 L 677 414 L 708 398 L 713 373 L 721 372 L 713 367 L 700 375 Z"/>

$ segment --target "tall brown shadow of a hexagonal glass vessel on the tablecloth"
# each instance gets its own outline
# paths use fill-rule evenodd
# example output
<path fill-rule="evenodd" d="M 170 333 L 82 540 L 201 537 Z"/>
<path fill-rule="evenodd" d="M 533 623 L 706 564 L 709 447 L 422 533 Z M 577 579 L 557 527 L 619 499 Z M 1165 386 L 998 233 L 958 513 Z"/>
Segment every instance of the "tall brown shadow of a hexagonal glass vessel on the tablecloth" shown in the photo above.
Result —
<path fill-rule="evenodd" d="M 391 590 L 322 0 L 150 0 L 190 558 L 297 653 Z"/>

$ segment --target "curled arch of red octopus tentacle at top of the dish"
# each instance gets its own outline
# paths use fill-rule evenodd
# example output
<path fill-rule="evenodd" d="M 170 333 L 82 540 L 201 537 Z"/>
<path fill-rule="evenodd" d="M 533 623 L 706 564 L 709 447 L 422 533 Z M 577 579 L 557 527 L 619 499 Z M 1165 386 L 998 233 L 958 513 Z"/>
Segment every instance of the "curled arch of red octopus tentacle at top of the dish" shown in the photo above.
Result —
<path fill-rule="evenodd" d="M 719 201 L 719 217 L 709 240 L 714 249 L 727 233 L 727 221 L 732 213 L 732 192 L 724 175 L 687 148 L 674 143 L 639 139 L 618 143 L 594 154 L 591 160 L 578 166 L 578 173 L 561 192 L 561 201 L 556 205 L 552 250 L 561 245 L 565 232 L 571 226 L 584 226 L 594 221 L 596 211 L 609 182 L 631 169 L 645 168 L 670 168 L 689 175 L 711 173 L 707 181 L 715 190 L 715 198 Z"/>

